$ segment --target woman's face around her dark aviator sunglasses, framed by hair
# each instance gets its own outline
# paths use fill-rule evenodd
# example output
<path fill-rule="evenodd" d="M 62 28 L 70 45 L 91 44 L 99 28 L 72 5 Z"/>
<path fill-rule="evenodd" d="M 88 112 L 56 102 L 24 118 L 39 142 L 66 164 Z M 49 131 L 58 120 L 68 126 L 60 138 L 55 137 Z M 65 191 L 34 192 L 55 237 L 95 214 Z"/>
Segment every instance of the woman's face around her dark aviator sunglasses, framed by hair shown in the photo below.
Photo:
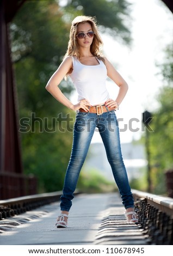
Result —
<path fill-rule="evenodd" d="M 89 22 L 80 23 L 78 25 L 77 34 L 82 33 L 82 32 L 92 32 L 92 27 Z M 89 47 L 90 48 L 93 38 L 94 38 L 94 35 L 92 35 L 92 34 L 90 35 L 87 33 L 84 34 L 84 38 L 82 38 L 82 39 L 77 38 L 79 47 L 84 47 L 84 48 Z"/>

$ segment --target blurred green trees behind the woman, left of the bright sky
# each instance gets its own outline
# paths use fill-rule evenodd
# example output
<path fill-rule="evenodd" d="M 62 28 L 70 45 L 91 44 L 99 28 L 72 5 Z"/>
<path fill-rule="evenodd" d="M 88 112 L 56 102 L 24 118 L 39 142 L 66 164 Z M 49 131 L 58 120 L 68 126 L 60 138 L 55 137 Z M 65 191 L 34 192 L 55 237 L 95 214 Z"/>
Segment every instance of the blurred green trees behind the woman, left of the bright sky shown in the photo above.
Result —
<path fill-rule="evenodd" d="M 9 24 L 23 168 L 24 173 L 38 178 L 38 192 L 63 188 L 70 157 L 75 112 L 56 101 L 45 86 L 66 52 L 71 20 L 76 15 L 96 15 L 100 25 L 119 33 L 119 38 L 126 40 L 129 35 L 121 23 L 127 17 L 125 1 L 82 1 L 82 10 L 74 5 L 75 1 L 64 8 L 58 3 L 26 1 Z M 114 13 L 112 8 L 116 9 Z M 62 81 L 60 88 L 67 97 L 74 89 L 69 81 Z M 96 180 L 98 175 L 92 178 Z M 94 189 L 95 184 L 98 190 L 97 182 L 91 182 L 90 187 Z M 102 180 L 101 184 L 106 183 Z"/>

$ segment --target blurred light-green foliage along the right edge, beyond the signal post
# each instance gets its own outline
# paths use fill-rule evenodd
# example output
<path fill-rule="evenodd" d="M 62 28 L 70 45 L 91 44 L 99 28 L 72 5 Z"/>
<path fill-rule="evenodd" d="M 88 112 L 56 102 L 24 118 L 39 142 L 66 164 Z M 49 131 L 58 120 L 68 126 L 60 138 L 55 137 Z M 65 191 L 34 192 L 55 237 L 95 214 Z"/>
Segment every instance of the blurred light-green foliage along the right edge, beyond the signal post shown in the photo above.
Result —
<path fill-rule="evenodd" d="M 152 166 L 153 192 L 164 194 L 165 171 L 173 168 L 173 56 L 171 47 L 166 50 L 165 63 L 162 64 L 163 87 L 158 95 L 159 108 L 153 113 L 150 132 L 150 153 Z"/>

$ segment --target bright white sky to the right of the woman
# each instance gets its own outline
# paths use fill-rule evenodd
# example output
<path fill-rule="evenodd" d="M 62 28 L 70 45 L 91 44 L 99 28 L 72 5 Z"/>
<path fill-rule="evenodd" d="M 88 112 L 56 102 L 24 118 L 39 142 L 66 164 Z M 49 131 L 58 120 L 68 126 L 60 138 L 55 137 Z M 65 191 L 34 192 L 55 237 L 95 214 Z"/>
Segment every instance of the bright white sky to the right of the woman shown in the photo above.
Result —
<path fill-rule="evenodd" d="M 157 94 L 163 86 L 160 68 L 164 49 L 172 43 L 173 15 L 161 0 L 128 0 L 131 11 L 131 46 L 122 45 L 102 34 L 104 55 L 125 78 L 129 89 L 116 116 L 119 119 L 121 143 L 137 140 L 144 133 L 142 113 L 152 113 L 159 106 Z M 107 82 L 110 97 L 115 99 L 118 86 Z M 76 95 L 72 96 L 75 100 Z M 91 143 L 101 142 L 96 130 Z"/>

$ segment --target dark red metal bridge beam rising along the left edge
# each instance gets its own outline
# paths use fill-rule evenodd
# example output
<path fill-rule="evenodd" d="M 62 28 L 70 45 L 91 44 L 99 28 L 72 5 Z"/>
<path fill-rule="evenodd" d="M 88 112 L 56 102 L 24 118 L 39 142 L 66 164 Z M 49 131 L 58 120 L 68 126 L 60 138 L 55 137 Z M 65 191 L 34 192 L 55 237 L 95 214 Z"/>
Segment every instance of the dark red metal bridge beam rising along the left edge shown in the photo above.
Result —
<path fill-rule="evenodd" d="M 24 0 L 25 1 L 25 0 Z M 22 196 L 24 180 L 18 134 L 17 93 L 8 22 L 24 1 L 0 1 L 0 198 Z M 24 183 L 24 182 L 23 182 Z M 22 185 L 24 186 L 24 184 Z M 10 190 L 14 187 L 14 190 Z M 18 189 L 17 189 L 18 187 Z M 9 188 L 9 189 L 8 189 Z"/>

